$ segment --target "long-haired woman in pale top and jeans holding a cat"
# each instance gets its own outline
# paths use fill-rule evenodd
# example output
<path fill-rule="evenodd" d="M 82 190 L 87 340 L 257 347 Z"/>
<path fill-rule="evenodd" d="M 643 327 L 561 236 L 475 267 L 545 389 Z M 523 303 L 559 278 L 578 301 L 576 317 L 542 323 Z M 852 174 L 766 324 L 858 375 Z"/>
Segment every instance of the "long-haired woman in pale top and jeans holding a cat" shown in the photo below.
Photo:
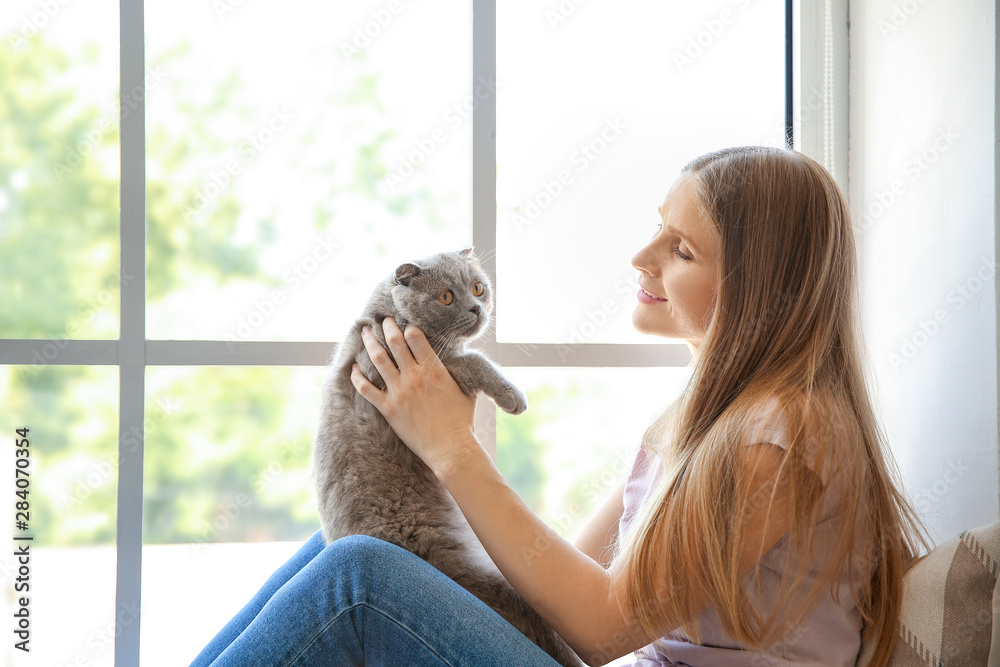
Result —
<path fill-rule="evenodd" d="M 588 664 L 854 665 L 864 623 L 883 665 L 927 545 L 865 384 L 843 195 L 801 153 L 734 148 L 688 164 L 660 216 L 633 323 L 686 340 L 694 373 L 576 545 L 505 484 L 419 329 L 383 324 L 396 364 L 366 336 L 387 388 L 357 367 L 355 387 Z M 195 664 L 555 663 L 408 552 L 317 535 Z"/>

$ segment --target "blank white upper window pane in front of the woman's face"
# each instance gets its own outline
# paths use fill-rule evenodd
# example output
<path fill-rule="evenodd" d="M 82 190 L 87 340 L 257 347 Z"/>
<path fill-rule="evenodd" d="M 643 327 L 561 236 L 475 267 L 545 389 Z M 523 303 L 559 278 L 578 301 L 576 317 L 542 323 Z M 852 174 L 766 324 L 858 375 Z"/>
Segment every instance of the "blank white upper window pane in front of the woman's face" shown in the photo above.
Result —
<path fill-rule="evenodd" d="M 784 43 L 780 2 L 497 3 L 498 340 L 654 342 L 630 260 L 691 158 L 782 145 Z"/>

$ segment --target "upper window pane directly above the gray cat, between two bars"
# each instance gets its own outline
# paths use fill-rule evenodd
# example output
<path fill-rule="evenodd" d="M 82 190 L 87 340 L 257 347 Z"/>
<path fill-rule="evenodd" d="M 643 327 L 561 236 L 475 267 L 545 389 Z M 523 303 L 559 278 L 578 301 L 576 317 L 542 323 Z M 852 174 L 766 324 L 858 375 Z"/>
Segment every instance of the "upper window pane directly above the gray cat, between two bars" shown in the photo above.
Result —
<path fill-rule="evenodd" d="M 150 0 L 146 26 L 151 338 L 334 340 L 397 264 L 471 244 L 471 2 Z"/>

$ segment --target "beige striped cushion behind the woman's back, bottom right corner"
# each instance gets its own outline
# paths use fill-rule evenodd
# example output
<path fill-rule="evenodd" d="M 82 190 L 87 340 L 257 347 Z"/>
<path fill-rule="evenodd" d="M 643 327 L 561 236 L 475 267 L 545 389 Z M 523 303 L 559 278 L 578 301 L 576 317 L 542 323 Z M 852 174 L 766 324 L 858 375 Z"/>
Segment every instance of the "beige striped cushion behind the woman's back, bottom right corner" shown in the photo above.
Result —
<path fill-rule="evenodd" d="M 967 530 L 914 565 L 903 578 L 889 666 L 1000 667 L 998 563 L 1000 522 Z M 868 664 L 874 648 L 873 641 L 862 642 L 858 667 Z"/>

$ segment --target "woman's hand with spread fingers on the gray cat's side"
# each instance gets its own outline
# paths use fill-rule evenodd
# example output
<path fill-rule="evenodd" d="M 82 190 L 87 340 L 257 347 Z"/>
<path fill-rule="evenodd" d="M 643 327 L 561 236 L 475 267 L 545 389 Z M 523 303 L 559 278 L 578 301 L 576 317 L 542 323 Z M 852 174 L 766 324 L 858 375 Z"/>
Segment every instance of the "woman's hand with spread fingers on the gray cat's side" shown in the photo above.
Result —
<path fill-rule="evenodd" d="M 361 335 L 386 390 L 369 382 L 357 364 L 351 368 L 351 381 L 406 446 L 440 474 L 460 461 L 474 442 L 476 397 L 462 391 L 415 325 L 408 325 L 404 334 L 390 317 L 382 331 L 395 364 L 368 327 Z"/>

